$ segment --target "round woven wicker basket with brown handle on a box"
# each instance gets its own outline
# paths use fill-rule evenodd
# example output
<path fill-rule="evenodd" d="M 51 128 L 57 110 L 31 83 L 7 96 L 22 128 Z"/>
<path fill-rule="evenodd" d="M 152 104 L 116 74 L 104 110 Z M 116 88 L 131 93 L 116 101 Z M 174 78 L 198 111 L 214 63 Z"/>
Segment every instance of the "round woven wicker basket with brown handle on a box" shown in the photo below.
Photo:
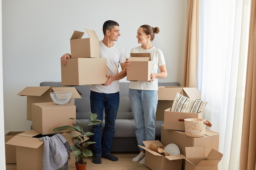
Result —
<path fill-rule="evenodd" d="M 187 118 L 183 120 L 185 135 L 189 137 L 202 137 L 205 133 L 205 126 L 211 127 L 211 123 L 205 119 Z"/>

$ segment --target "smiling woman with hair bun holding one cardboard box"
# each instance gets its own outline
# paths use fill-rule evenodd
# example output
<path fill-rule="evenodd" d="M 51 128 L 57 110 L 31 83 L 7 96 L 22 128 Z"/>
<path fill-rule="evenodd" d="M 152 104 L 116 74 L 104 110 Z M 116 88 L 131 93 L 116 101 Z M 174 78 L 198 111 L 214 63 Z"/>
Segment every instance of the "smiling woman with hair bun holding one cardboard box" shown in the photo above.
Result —
<path fill-rule="evenodd" d="M 158 79 L 167 76 L 163 52 L 152 46 L 151 42 L 159 33 L 158 27 L 142 25 L 137 31 L 137 46 L 130 53 L 150 53 L 152 61 L 152 73 L 149 81 L 131 81 L 129 85 L 129 97 L 132 113 L 136 124 L 136 138 L 138 145 L 144 146 L 142 141 L 155 140 L 155 113 L 157 109 Z M 126 59 L 126 68 L 130 66 L 130 60 Z M 160 68 L 160 73 L 158 73 Z M 144 164 L 145 150 L 139 148 L 140 153 L 132 159 L 134 162 Z"/>

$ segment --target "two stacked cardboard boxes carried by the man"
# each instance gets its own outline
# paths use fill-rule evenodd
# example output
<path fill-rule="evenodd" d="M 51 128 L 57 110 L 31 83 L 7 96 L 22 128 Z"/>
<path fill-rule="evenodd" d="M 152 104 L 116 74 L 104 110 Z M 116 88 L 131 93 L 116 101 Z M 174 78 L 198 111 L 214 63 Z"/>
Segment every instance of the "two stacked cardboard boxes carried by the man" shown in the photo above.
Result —
<path fill-rule="evenodd" d="M 86 31 L 89 38 L 82 38 L 80 31 L 74 31 L 71 37 L 71 58 L 65 66 L 61 64 L 63 86 L 105 84 L 108 80 L 107 59 L 99 56 L 99 38 L 95 31 Z"/>

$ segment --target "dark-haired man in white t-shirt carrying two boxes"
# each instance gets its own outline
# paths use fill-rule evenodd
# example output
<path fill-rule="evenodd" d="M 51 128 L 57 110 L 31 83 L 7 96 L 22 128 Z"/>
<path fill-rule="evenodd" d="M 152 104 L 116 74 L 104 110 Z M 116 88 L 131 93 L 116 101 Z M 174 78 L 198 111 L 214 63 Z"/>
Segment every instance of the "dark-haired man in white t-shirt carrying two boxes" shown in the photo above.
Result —
<path fill-rule="evenodd" d="M 105 127 L 101 134 L 102 124 L 92 127 L 92 145 L 94 154 L 93 163 L 101 163 L 101 156 L 111 161 L 118 161 L 118 158 L 110 153 L 112 139 L 115 134 L 115 119 L 119 107 L 119 79 L 126 76 L 126 53 L 121 46 L 114 42 L 121 35 L 119 24 L 115 21 L 108 20 L 103 24 L 103 40 L 99 41 L 99 52 L 101 58 L 107 58 L 108 80 L 105 84 L 96 84 L 91 86 L 90 102 L 92 113 L 98 114 L 98 119 L 103 120 L 103 110 L 105 109 Z M 61 62 L 65 66 L 66 59 L 70 54 L 61 57 Z M 119 72 L 119 63 L 121 71 Z M 101 140 L 102 139 L 102 140 Z"/>

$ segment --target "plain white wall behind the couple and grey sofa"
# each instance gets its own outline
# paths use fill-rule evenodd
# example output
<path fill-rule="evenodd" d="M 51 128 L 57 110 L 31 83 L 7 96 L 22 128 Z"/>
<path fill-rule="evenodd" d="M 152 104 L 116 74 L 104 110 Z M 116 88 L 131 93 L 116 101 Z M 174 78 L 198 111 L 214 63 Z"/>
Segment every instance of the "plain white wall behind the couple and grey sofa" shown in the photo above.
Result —
<path fill-rule="evenodd" d="M 106 20 L 119 23 L 121 37 L 116 43 L 127 56 L 139 46 L 135 37 L 139 26 L 159 27 L 153 45 L 163 51 L 168 71 L 159 82 L 182 84 L 186 0 L 2 0 L 5 131 L 30 129 L 27 97 L 17 94 L 43 81 L 60 82 L 60 57 L 70 53 L 74 30 L 95 30 L 101 40 Z"/>

